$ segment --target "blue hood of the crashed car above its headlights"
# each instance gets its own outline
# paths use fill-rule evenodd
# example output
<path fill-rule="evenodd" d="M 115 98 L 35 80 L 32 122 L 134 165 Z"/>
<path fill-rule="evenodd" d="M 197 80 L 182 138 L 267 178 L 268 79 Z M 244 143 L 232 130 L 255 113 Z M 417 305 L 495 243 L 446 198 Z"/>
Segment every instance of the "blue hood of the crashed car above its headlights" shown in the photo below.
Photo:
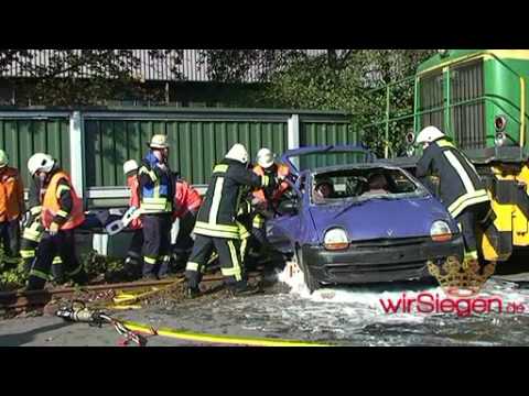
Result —
<path fill-rule="evenodd" d="M 446 221 L 457 232 L 444 207 L 432 197 L 374 199 L 344 211 L 347 205 L 322 205 L 310 208 L 317 239 L 333 227 L 341 227 L 350 241 L 429 237 L 436 220 Z"/>

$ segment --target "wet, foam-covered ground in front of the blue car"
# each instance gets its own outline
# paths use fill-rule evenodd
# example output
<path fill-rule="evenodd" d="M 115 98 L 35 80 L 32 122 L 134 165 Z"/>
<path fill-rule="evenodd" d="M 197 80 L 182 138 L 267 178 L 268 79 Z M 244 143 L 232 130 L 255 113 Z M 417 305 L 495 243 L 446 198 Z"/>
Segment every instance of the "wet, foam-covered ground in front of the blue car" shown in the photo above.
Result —
<path fill-rule="evenodd" d="M 421 293 L 444 298 L 432 285 L 399 283 L 361 287 L 333 287 L 307 294 L 300 277 L 278 282 L 263 293 L 233 298 L 226 293 L 192 301 L 159 301 L 140 310 L 120 311 L 116 317 L 158 327 L 214 334 L 267 337 L 320 341 L 337 345 L 526 345 L 529 344 L 529 274 L 526 260 L 504 266 L 479 294 L 485 301 L 497 298 L 489 312 L 458 310 L 420 312 L 412 306 L 388 314 L 380 299 L 397 304 Z M 501 274 L 503 273 L 503 274 Z M 518 275 L 512 275 L 518 274 Z M 283 279 L 283 274 L 279 274 Z M 516 280 L 516 282 L 514 282 Z M 433 297 L 432 297 L 433 298 Z M 512 307 L 518 312 L 510 312 Z M 454 307 L 454 306 L 453 306 Z M 523 307 L 523 311 L 521 308 Z M 52 316 L 0 321 L 0 345 L 116 345 L 119 336 L 108 326 L 65 323 Z M 148 345 L 197 344 L 163 337 Z"/>

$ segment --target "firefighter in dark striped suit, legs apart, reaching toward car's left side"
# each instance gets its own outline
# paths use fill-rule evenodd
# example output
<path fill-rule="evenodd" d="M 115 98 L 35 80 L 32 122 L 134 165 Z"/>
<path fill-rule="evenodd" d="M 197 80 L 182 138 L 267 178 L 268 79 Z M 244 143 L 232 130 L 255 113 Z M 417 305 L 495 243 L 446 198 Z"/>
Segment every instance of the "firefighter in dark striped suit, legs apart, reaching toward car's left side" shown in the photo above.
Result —
<path fill-rule="evenodd" d="M 204 265 L 216 250 L 225 284 L 234 295 L 253 293 L 241 267 L 241 227 L 237 222 L 239 201 L 245 186 L 262 188 L 273 186 L 274 179 L 258 176 L 247 167 L 248 152 L 235 144 L 224 161 L 213 169 L 212 180 L 198 211 L 193 251 L 185 277 L 188 298 L 199 295 L 198 284 Z"/>

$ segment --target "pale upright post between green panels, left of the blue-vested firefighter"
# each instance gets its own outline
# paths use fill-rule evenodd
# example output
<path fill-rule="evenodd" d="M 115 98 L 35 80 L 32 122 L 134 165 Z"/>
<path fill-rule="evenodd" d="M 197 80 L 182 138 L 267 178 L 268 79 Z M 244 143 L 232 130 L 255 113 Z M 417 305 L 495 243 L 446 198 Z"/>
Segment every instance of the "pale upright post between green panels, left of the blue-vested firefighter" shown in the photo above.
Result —
<path fill-rule="evenodd" d="M 79 198 L 85 198 L 85 140 L 83 117 L 80 111 L 74 111 L 69 114 L 69 164 L 71 177 L 75 191 Z"/>

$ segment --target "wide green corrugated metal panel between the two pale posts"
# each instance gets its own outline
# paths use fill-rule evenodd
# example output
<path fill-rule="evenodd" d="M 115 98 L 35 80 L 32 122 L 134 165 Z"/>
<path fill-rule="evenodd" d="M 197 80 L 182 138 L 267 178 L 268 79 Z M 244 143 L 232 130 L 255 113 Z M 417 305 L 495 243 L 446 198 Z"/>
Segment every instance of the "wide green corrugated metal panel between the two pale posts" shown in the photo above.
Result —
<path fill-rule="evenodd" d="M 261 146 L 277 153 L 288 147 L 287 123 L 266 120 L 105 120 L 85 121 L 87 187 L 122 186 L 122 164 L 140 161 L 153 134 L 171 144 L 170 165 L 195 185 L 207 184 L 213 166 L 235 143 L 251 156 Z"/>

